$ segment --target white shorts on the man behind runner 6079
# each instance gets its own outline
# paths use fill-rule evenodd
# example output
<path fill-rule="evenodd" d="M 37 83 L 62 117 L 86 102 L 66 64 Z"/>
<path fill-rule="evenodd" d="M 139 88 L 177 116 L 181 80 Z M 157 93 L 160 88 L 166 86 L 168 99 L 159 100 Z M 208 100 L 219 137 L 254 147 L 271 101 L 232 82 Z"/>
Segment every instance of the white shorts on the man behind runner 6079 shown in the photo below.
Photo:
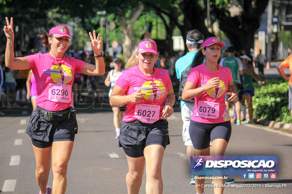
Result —
<path fill-rule="evenodd" d="M 193 145 L 190 138 L 189 127 L 191 122 L 191 116 L 194 110 L 194 103 L 186 102 L 181 108 L 182 120 L 183 120 L 183 141 L 186 146 Z"/>

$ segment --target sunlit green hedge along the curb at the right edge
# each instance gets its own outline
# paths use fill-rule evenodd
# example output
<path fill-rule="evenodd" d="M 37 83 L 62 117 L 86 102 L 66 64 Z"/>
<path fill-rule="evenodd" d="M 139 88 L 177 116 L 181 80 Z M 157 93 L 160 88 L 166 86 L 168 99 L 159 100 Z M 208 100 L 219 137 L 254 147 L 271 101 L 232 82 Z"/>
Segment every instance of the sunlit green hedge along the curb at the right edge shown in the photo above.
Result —
<path fill-rule="evenodd" d="M 278 79 L 265 80 L 266 86 L 255 85 L 253 96 L 253 116 L 257 118 L 274 120 L 277 122 L 292 123 L 288 109 L 288 81 Z"/>

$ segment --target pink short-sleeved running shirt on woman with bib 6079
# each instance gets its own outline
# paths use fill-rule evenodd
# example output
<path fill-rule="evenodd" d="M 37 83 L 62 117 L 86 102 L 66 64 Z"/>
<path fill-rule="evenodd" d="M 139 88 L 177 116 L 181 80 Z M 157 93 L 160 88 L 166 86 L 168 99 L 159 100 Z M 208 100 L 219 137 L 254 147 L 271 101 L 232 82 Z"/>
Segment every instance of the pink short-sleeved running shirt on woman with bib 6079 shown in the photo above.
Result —
<path fill-rule="evenodd" d="M 206 83 L 214 77 L 219 77 L 220 80 L 220 86 L 218 88 L 212 88 L 195 97 L 194 111 L 191 116 L 191 120 L 193 121 L 200 123 L 230 121 L 230 116 L 225 105 L 225 93 L 227 92 L 228 83 L 232 83 L 232 74 L 228 67 L 222 67 L 220 65 L 217 65 L 217 67 L 219 70 L 212 72 L 209 71 L 205 63 L 203 63 L 193 68 L 187 76 L 187 81 L 194 83 L 196 85 L 195 88 L 205 86 Z M 218 106 L 216 106 L 215 110 L 206 104 L 213 104 L 213 107 L 218 104 Z M 205 114 L 206 117 L 199 116 L 199 114 Z M 209 118 L 213 115 L 217 115 L 218 118 Z"/>

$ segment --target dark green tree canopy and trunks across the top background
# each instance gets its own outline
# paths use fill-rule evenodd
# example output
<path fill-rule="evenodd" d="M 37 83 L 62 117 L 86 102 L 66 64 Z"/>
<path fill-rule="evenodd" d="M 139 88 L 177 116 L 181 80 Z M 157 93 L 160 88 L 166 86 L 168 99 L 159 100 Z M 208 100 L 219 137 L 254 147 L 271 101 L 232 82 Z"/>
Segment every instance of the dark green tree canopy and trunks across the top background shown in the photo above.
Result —
<path fill-rule="evenodd" d="M 244 49 L 249 52 L 268 0 L 209 1 L 211 24 L 218 22 L 220 30 L 238 51 Z M 232 6 L 239 9 L 237 15 L 231 14 Z M 30 3 L 0 0 L 3 26 L 6 16 L 14 17 L 15 27 L 19 29 L 15 34 L 15 49 L 26 49 L 23 47 L 27 47 L 29 40 L 35 38 L 41 29 L 48 30 L 57 23 L 73 27 L 75 35 L 78 35 L 78 39 L 73 40 L 74 47 L 81 49 L 89 40 L 89 37 L 86 38 L 89 31 L 97 30 L 105 36 L 105 28 L 100 28 L 100 18 L 105 16 L 97 15 L 98 11 L 106 11 L 109 23 L 115 24 L 115 27 L 109 29 L 110 41 L 116 39 L 123 44 L 127 57 L 131 54 L 131 41 L 140 39 L 147 31 L 153 34 L 154 29 L 156 38 L 159 36 L 157 32 L 165 36 L 168 52 L 172 51 L 174 32 L 180 33 L 184 39 L 187 31 L 192 29 L 201 31 L 204 37 L 217 35 L 206 25 L 207 0 L 32 0 Z M 3 31 L 0 32 L 0 43 L 0 47 L 5 49 Z"/>

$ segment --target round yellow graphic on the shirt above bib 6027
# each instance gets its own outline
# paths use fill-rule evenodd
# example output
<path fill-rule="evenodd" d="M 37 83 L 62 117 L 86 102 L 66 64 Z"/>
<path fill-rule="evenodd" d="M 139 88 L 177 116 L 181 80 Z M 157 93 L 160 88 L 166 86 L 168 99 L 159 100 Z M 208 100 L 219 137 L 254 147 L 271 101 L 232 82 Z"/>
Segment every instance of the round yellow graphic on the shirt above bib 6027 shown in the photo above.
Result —
<path fill-rule="evenodd" d="M 164 83 L 153 80 L 146 81 L 143 83 L 141 92 L 145 93 L 143 96 L 146 100 L 157 100 L 165 95 L 166 89 Z"/>

